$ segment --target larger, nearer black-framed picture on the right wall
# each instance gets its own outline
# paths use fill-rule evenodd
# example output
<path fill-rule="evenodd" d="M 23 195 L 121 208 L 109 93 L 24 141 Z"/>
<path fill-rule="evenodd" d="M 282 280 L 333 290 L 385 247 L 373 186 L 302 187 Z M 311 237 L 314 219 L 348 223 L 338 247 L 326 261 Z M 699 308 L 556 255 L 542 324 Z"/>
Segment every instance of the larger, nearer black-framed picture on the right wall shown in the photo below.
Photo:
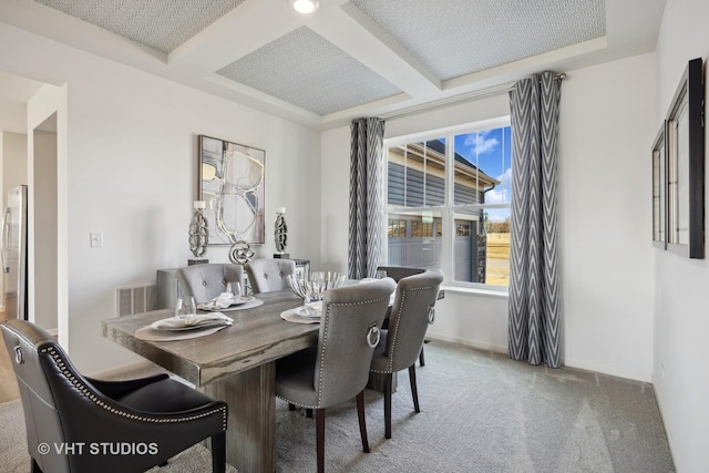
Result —
<path fill-rule="evenodd" d="M 667 249 L 703 258 L 705 133 L 701 59 L 689 61 L 667 113 Z"/>

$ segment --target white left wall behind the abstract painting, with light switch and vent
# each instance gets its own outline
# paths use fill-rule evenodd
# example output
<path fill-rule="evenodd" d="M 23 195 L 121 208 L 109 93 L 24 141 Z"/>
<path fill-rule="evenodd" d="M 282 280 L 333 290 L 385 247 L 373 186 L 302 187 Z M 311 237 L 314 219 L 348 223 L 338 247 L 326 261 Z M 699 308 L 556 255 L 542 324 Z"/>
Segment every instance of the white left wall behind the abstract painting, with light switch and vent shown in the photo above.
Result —
<path fill-rule="evenodd" d="M 68 348 L 80 370 L 140 360 L 103 339 L 100 320 L 113 317 L 116 287 L 150 282 L 156 269 L 192 257 L 199 134 L 266 150 L 267 243 L 255 249 L 274 253 L 275 212 L 286 206 L 287 249 L 319 265 L 319 133 L 2 23 L 0 58 L 8 72 L 66 83 L 70 153 L 59 192 L 66 196 Z M 59 173 L 61 181 L 61 162 Z M 103 248 L 89 246 L 91 232 L 103 232 Z M 227 248 L 207 257 L 227 261 Z"/>

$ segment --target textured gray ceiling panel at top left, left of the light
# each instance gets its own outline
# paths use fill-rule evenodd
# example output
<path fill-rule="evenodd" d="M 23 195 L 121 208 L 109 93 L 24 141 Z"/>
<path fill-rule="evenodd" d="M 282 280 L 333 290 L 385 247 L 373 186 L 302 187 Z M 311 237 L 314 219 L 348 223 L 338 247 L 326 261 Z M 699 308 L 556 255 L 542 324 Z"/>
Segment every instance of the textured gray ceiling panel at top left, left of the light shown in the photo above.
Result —
<path fill-rule="evenodd" d="M 168 53 L 244 0 L 34 0 Z"/>

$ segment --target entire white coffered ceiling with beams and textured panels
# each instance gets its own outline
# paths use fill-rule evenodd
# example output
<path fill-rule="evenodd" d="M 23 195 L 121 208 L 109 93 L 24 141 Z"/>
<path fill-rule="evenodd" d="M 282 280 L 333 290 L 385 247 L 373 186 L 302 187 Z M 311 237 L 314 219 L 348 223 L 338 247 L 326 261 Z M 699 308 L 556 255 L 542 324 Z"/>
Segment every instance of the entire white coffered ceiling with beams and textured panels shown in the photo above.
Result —
<path fill-rule="evenodd" d="M 655 50 L 665 0 L 2 0 L 0 21 L 318 128 Z"/>

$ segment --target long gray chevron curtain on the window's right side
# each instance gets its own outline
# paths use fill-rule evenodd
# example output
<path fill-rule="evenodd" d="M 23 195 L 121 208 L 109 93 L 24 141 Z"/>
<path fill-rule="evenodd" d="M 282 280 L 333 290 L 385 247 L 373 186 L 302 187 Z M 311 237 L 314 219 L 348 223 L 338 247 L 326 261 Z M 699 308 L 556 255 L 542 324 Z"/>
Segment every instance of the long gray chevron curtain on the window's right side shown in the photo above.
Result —
<path fill-rule="evenodd" d="M 510 92 L 512 245 L 508 351 L 530 364 L 561 367 L 556 239 L 556 135 L 561 80 L 544 72 Z"/>

